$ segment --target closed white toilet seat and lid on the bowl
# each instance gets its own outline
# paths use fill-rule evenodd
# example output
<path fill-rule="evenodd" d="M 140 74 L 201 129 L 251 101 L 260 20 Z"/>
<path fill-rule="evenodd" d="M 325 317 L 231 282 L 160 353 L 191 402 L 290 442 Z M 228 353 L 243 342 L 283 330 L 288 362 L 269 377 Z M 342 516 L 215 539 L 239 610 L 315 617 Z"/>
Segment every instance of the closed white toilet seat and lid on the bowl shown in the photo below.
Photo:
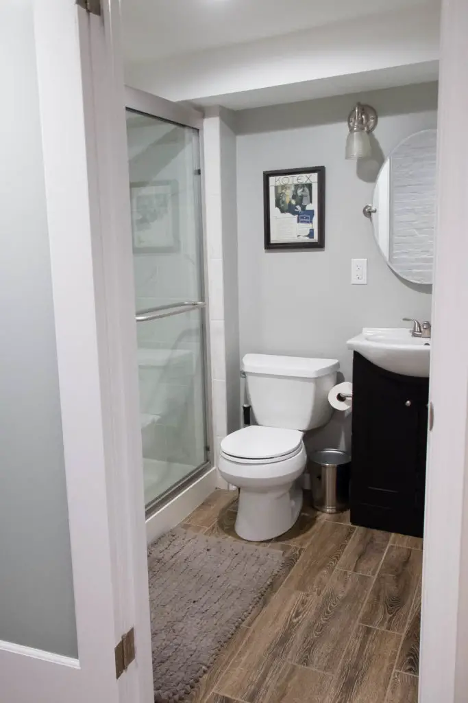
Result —
<path fill-rule="evenodd" d="M 302 449 L 302 432 L 282 427 L 250 425 L 228 434 L 221 454 L 241 464 L 268 464 L 287 460 Z"/>

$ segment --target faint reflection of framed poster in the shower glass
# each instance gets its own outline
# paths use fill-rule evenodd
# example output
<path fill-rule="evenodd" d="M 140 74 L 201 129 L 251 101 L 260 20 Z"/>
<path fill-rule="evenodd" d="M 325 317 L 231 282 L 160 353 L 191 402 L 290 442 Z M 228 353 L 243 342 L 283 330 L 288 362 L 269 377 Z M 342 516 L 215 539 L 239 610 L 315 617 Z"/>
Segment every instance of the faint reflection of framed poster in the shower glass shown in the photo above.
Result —
<path fill-rule="evenodd" d="M 170 254 L 180 250 L 177 181 L 131 183 L 133 251 Z"/>

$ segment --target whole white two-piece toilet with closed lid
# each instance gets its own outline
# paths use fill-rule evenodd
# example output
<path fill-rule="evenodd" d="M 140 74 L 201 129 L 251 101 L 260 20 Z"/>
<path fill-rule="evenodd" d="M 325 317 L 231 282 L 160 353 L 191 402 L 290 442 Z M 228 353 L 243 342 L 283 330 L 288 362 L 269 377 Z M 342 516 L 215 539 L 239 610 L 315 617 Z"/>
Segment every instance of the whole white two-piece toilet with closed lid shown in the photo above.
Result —
<path fill-rule="evenodd" d="M 302 508 L 300 475 L 306 452 L 302 434 L 328 423 L 328 392 L 336 382 L 336 359 L 246 354 L 242 360 L 248 397 L 258 425 L 228 434 L 218 469 L 239 488 L 234 529 L 248 541 L 287 532 Z"/>

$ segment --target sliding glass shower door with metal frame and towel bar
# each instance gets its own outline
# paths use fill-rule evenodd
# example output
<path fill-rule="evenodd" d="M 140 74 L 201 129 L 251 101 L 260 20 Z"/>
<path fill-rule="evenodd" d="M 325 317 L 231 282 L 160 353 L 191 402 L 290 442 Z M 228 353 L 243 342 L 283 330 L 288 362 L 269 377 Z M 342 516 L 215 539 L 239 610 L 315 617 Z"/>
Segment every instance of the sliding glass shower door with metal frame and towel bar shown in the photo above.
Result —
<path fill-rule="evenodd" d="M 209 465 L 201 117 L 134 89 L 126 101 L 149 515 Z"/>

